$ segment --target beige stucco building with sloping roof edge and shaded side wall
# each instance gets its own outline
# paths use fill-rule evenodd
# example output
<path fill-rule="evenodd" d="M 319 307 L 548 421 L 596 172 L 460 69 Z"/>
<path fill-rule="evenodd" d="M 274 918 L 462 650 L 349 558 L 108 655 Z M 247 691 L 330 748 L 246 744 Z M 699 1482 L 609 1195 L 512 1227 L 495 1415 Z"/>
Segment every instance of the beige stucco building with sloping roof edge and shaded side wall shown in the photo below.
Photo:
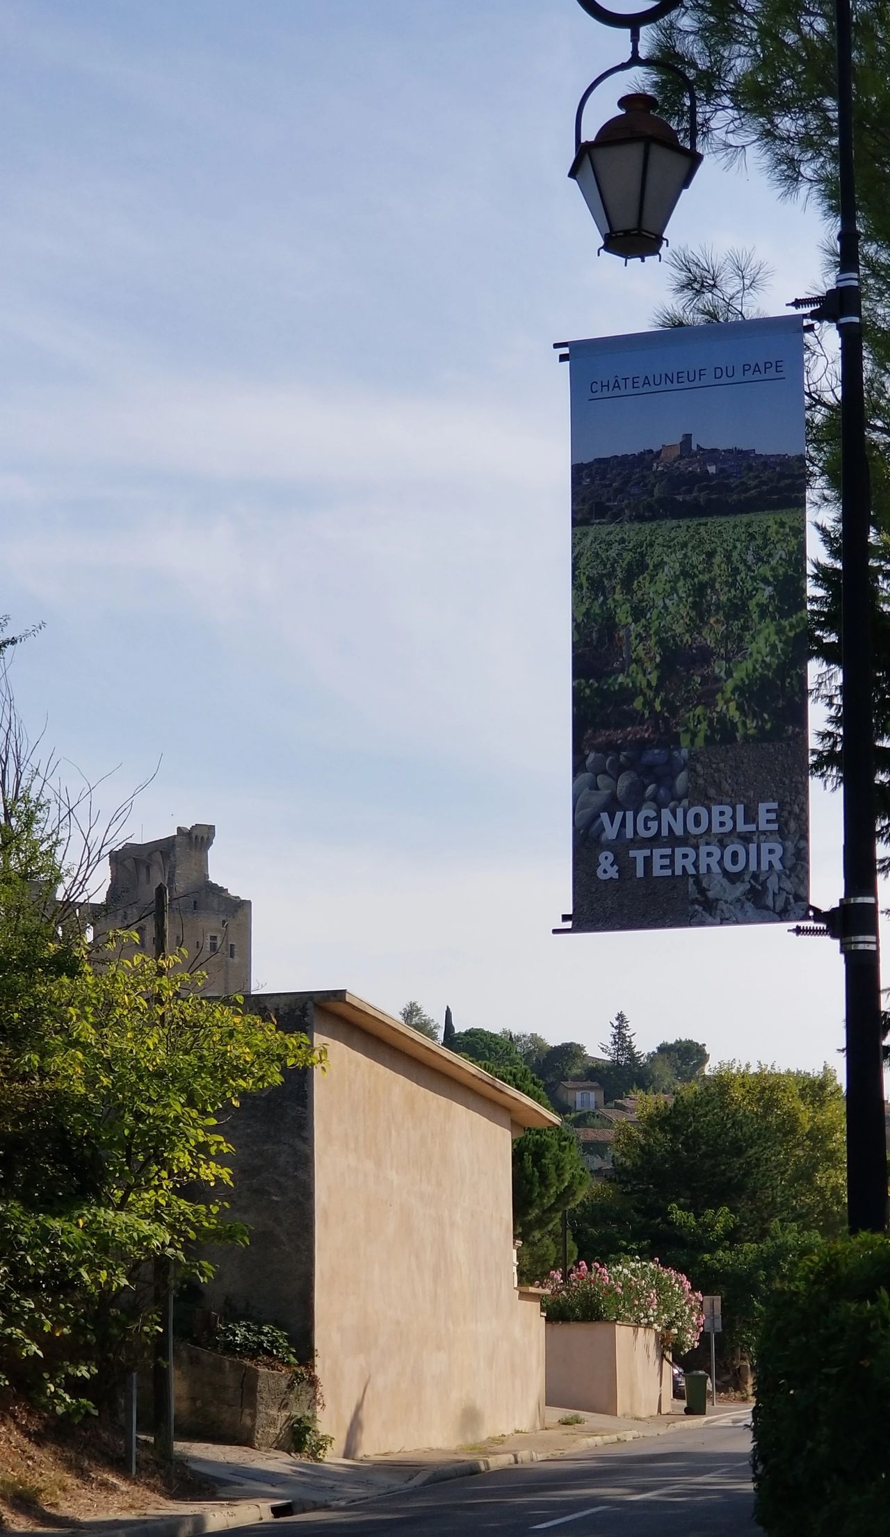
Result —
<path fill-rule="evenodd" d="M 212 1308 L 315 1354 L 335 1456 L 544 1423 L 544 1320 L 513 1280 L 512 1137 L 558 1117 L 346 991 L 255 996 L 327 1050 L 251 1096 Z"/>

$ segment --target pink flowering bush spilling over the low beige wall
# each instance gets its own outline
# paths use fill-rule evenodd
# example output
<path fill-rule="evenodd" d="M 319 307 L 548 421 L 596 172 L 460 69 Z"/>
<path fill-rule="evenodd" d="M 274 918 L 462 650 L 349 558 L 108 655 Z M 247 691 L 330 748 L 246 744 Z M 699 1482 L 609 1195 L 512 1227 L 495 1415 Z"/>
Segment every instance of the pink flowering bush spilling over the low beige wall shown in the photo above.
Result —
<path fill-rule="evenodd" d="M 579 1260 L 566 1280 L 552 1270 L 543 1286 L 547 1322 L 636 1323 L 658 1330 L 663 1346 L 678 1356 L 698 1343 L 704 1323 L 701 1293 L 656 1259 L 616 1259 L 609 1265 Z"/>

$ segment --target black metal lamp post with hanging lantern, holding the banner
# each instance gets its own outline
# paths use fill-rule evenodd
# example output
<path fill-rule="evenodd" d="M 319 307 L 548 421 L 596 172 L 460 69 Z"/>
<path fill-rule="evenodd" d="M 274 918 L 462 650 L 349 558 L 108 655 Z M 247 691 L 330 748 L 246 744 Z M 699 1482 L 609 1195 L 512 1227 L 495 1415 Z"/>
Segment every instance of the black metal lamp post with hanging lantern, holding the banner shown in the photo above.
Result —
<path fill-rule="evenodd" d="M 647 11 L 616 15 L 599 0 L 578 0 L 587 15 L 604 26 L 630 32 L 630 58 L 604 71 L 587 88 L 575 120 L 575 161 L 570 175 L 579 183 L 590 212 L 603 234 L 606 251 L 616 255 L 646 257 L 661 249 L 664 227 L 682 186 L 695 175 L 701 157 L 695 152 L 695 92 L 676 66 L 644 60 L 638 52 L 639 28 L 659 22 L 682 0 L 656 0 Z M 809 310 L 813 320 L 830 320 L 841 338 L 841 672 L 842 672 L 842 779 L 844 779 L 844 896 L 830 913 L 813 908 L 827 931 L 841 944 L 845 971 L 845 1044 L 847 1044 L 847 1220 L 852 1233 L 882 1233 L 887 1227 L 887 1140 L 884 1122 L 884 1062 L 881 1019 L 881 970 L 878 951 L 878 868 L 875 855 L 875 744 L 873 744 L 873 666 L 872 666 L 872 581 L 868 566 L 868 535 L 872 526 L 868 461 L 865 453 L 865 398 L 862 370 L 862 307 L 859 294 L 859 232 L 856 229 L 856 180 L 853 164 L 853 22 L 850 0 L 835 0 L 836 34 L 836 108 L 838 108 L 838 184 L 841 226 L 838 234 L 839 271 L 836 286 L 821 298 L 795 300 L 795 307 Z M 679 180 L 678 161 L 670 161 L 675 192 L 667 175 L 659 189 L 658 218 L 649 214 L 649 161 L 653 144 L 656 154 L 667 151 L 667 141 L 656 140 L 652 123 L 652 97 L 624 98 L 626 118 L 621 131 L 613 118 L 589 144 L 581 143 L 581 114 L 589 95 L 612 74 L 633 65 L 672 69 L 687 88 L 690 103 L 690 157 L 686 181 Z M 633 103 L 633 105 L 630 105 Z M 641 103 L 641 106 L 636 106 Z M 644 105 L 643 105 L 644 103 Z M 629 111 L 627 111 L 629 108 Z M 636 114 L 649 117 L 641 128 Z M 667 124 L 666 124 L 667 126 Z M 629 144 L 636 143 L 633 166 Z M 606 161 L 603 155 L 615 155 Z M 616 195 L 618 154 L 626 155 L 627 186 Z M 676 155 L 676 146 L 670 146 Z M 647 158 L 649 157 L 649 158 Z M 609 180 L 612 177 L 612 180 Z M 593 186 L 595 183 L 595 186 Z M 629 194 L 630 188 L 630 194 Z M 636 203 L 633 204 L 633 198 Z M 601 212 L 599 212 L 601 206 Z M 627 223 L 627 206 L 635 206 L 636 218 Z M 606 224 L 606 227 L 604 227 Z M 624 227 L 616 227 L 624 224 Z M 647 227 L 650 224 L 652 227 Z M 659 227 L 655 227 L 659 224 Z M 649 241 L 649 244 L 647 244 Z M 633 247 L 633 249 L 632 249 Z"/>

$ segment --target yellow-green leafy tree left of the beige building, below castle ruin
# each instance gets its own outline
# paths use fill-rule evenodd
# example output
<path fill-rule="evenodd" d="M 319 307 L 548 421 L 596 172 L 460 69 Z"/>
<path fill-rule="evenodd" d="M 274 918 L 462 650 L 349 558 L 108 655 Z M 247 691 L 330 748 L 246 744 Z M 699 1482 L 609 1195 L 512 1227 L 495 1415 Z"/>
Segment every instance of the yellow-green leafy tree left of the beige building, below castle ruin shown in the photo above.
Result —
<path fill-rule="evenodd" d="M 194 1243 L 246 1242 L 226 1219 L 234 1148 L 220 1111 L 323 1061 L 306 1036 L 198 996 L 204 976 L 175 971 L 181 954 L 108 954 L 31 974 L 26 1039 L 9 1031 L 0 1050 L 0 1225 L 54 1254 L 43 1271 L 18 1243 L 0 1266 L 0 1311 L 15 1322 L 0 1374 L 63 1408 L 85 1406 L 71 1377 L 98 1373 L 108 1391 L 115 1362 L 151 1336 L 149 1257 L 206 1279 L 212 1266 L 195 1262 Z M 74 1354 L 45 1359 L 46 1333 Z"/>

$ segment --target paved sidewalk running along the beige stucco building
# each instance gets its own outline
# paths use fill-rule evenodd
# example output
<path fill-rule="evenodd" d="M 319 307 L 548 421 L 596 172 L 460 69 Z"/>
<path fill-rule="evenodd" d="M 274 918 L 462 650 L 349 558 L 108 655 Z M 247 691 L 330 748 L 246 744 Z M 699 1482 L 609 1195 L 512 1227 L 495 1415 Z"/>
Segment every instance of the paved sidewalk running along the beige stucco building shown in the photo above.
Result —
<path fill-rule="evenodd" d="M 194 1537 L 198 1532 L 226 1531 L 274 1522 L 283 1515 L 358 1500 L 380 1499 L 398 1489 L 420 1488 L 446 1479 L 466 1479 L 492 1472 L 513 1463 L 572 1457 L 615 1442 L 639 1440 L 701 1426 L 701 1417 L 686 1417 L 682 1400 L 675 1400 L 675 1413 L 649 1420 L 623 1420 L 609 1414 L 581 1414 L 579 1425 L 560 1425 L 560 1419 L 575 1411 L 549 1408 L 546 1429 L 498 1436 L 458 1451 L 435 1448 L 395 1452 L 386 1457 L 347 1460 L 330 1457 L 314 1463 L 291 1457 L 283 1451 L 254 1451 L 249 1446 L 218 1446 L 209 1442 L 177 1442 L 177 1454 L 189 1466 L 211 1479 L 218 1488 L 218 1500 L 201 1503 L 168 1503 L 163 1511 L 112 1520 L 81 1522 L 55 1526 L 57 1537 L 66 1532 L 89 1537 Z M 707 1420 L 742 1422 L 750 1417 L 750 1405 L 718 1403 L 709 1406 Z M 6 1537 L 15 1537 L 8 1528 Z M 34 1534 L 31 1534 L 34 1537 Z"/>

